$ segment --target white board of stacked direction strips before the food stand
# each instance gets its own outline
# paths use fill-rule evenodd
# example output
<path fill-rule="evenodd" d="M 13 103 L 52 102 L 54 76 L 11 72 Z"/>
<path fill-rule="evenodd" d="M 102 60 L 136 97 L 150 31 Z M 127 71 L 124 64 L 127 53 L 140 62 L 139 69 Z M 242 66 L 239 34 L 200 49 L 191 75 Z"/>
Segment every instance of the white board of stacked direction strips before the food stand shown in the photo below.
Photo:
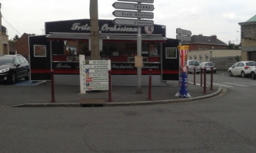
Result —
<path fill-rule="evenodd" d="M 81 57 L 80 63 L 81 93 L 108 90 L 108 70 L 111 70 L 111 60 L 84 60 Z"/>

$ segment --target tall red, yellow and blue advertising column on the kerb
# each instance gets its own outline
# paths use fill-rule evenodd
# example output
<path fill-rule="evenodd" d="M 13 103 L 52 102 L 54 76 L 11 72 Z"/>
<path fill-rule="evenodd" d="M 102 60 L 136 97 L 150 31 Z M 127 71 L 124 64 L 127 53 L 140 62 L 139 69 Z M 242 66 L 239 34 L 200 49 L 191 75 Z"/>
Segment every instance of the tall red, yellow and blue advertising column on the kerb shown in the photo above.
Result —
<path fill-rule="evenodd" d="M 179 80 L 179 93 L 176 96 L 182 98 L 191 97 L 188 93 L 188 70 L 187 70 L 187 60 L 188 60 L 188 46 L 178 46 L 180 54 L 180 80 Z"/>

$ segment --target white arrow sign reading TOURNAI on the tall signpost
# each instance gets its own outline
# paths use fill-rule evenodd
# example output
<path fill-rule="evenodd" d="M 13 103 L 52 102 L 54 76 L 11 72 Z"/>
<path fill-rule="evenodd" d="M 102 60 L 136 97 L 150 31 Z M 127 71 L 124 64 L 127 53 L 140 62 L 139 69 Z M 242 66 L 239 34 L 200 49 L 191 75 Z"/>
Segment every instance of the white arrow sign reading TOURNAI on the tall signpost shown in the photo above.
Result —
<path fill-rule="evenodd" d="M 113 4 L 114 8 L 118 9 L 128 9 L 137 11 L 154 11 L 154 5 L 141 5 L 136 3 L 125 3 L 125 2 L 115 2 Z"/>

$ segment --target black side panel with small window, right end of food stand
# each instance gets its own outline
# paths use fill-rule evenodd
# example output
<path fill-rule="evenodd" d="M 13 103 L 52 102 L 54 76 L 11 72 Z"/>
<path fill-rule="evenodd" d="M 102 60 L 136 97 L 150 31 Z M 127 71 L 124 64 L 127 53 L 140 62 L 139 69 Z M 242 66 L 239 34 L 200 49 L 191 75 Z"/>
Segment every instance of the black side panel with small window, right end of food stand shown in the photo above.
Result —
<path fill-rule="evenodd" d="M 168 39 L 161 53 L 161 80 L 178 80 L 178 40 Z"/>

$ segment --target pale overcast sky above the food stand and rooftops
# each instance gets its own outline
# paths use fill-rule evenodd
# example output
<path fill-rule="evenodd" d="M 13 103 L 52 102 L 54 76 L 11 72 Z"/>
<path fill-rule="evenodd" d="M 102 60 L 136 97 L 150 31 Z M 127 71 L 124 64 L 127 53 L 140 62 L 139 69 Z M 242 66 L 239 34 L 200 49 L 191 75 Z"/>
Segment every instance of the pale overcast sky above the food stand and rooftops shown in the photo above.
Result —
<path fill-rule="evenodd" d="M 89 0 L 0 0 L 2 24 L 9 39 L 15 34 L 44 34 L 45 21 L 89 18 Z M 114 19 L 117 0 L 98 0 L 98 18 Z M 211 36 L 228 44 L 240 43 L 239 22 L 256 15 L 255 0 L 155 0 L 155 24 L 167 27 L 167 37 L 176 37 L 176 28 L 192 34 Z"/>

